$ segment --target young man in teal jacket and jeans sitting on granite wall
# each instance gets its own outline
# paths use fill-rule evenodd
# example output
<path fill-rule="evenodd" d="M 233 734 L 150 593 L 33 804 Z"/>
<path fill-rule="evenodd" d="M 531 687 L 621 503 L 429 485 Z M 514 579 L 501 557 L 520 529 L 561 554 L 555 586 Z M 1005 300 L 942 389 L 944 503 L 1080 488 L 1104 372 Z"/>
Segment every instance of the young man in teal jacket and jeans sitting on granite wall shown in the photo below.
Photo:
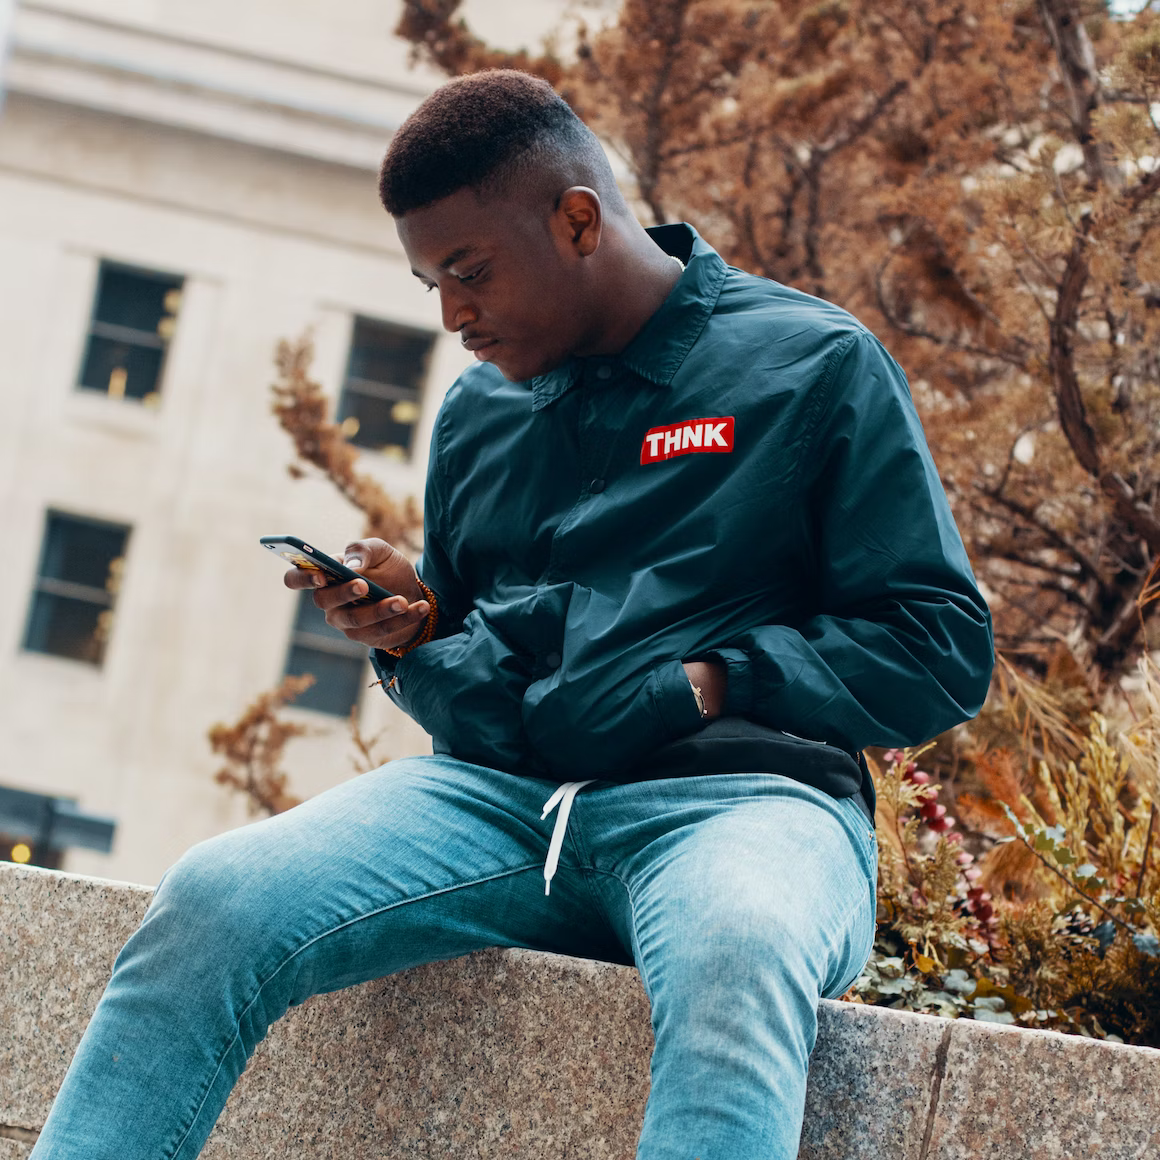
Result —
<path fill-rule="evenodd" d="M 398 595 L 314 600 L 435 754 L 190 850 L 32 1155 L 190 1160 L 289 1006 L 521 945 L 639 969 L 640 1160 L 791 1158 L 818 999 L 873 936 L 860 751 L 973 715 L 991 672 L 905 379 L 842 311 L 644 231 L 523 74 L 436 92 L 380 191 L 478 365 L 418 571 L 364 541 Z"/>

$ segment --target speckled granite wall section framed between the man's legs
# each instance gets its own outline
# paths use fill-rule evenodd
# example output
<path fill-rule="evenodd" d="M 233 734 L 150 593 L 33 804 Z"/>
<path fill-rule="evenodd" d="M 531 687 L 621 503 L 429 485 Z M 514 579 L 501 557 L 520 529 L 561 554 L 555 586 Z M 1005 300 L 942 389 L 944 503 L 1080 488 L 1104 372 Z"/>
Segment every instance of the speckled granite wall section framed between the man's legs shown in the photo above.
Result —
<path fill-rule="evenodd" d="M 651 1050 L 636 972 L 472 955 L 292 1013 L 255 1052 L 203 1154 L 624 1160 Z"/>

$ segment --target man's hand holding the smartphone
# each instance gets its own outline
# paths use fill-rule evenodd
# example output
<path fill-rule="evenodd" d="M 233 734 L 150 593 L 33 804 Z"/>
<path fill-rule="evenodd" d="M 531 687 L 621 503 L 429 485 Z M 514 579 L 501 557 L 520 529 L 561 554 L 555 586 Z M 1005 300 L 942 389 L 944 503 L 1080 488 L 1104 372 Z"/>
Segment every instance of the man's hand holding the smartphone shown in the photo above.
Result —
<path fill-rule="evenodd" d="M 414 640 L 432 609 L 411 560 L 383 539 L 356 539 L 347 544 L 341 559 L 348 568 L 398 595 L 375 604 L 353 604 L 367 595 L 361 580 L 327 582 L 320 572 L 303 568 L 291 568 L 283 582 L 288 588 L 313 588 L 314 603 L 326 612 L 326 623 L 350 640 L 370 648 L 401 648 Z"/>

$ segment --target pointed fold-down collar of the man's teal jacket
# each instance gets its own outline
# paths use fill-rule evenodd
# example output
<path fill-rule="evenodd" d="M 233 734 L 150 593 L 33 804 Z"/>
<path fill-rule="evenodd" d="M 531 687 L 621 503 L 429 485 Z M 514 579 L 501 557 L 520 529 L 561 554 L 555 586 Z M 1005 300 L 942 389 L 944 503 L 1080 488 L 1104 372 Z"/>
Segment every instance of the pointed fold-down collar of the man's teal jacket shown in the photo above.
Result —
<path fill-rule="evenodd" d="M 669 386 L 717 305 L 728 267 L 691 225 L 659 225 L 646 232 L 666 254 L 686 263 L 684 273 L 628 347 L 600 361 L 619 362 L 657 386 Z M 542 411 L 575 386 L 590 361 L 570 358 L 529 379 L 531 409 Z"/>

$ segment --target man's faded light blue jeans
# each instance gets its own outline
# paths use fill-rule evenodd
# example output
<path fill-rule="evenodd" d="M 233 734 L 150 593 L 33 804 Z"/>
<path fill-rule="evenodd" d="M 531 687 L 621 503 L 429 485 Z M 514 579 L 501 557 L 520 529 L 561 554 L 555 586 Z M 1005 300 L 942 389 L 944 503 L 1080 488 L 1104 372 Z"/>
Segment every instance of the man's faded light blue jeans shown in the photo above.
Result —
<path fill-rule="evenodd" d="M 405 759 L 195 846 L 118 956 L 32 1160 L 193 1160 L 289 1007 L 484 947 L 639 969 L 638 1160 L 791 1160 L 818 999 L 870 952 L 870 825 L 776 775 L 596 782 L 545 896 L 554 788 Z"/>

